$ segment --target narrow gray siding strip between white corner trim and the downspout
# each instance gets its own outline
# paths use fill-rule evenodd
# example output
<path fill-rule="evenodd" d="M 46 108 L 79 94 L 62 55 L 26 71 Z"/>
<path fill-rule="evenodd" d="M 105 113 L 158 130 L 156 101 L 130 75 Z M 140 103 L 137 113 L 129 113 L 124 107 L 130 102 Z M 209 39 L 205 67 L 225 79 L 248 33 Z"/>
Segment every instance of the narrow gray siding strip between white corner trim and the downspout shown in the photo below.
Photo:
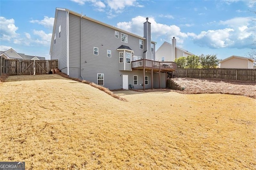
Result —
<path fill-rule="evenodd" d="M 69 14 L 69 75 L 79 77 L 80 71 L 80 17 Z M 84 61 L 85 62 L 85 61 Z"/>

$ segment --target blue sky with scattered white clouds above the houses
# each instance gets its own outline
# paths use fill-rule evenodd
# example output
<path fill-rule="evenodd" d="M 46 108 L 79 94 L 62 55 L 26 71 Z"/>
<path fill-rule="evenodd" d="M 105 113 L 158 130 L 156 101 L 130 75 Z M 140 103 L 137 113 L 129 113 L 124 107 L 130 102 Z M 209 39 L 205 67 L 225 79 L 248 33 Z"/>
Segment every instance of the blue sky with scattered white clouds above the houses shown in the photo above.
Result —
<path fill-rule="evenodd" d="M 56 8 L 143 36 L 149 17 L 156 49 L 171 43 L 196 55 L 246 57 L 256 40 L 256 0 L 0 0 L 0 51 L 50 59 Z"/>

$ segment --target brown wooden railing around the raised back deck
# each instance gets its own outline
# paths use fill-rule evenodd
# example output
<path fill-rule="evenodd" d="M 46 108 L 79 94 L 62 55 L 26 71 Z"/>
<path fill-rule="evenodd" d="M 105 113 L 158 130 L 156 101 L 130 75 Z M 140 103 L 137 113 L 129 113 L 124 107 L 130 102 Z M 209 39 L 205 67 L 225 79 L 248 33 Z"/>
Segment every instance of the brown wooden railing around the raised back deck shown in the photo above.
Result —
<path fill-rule="evenodd" d="M 132 68 L 145 67 L 150 69 L 176 69 L 177 65 L 175 62 L 160 62 L 149 59 L 140 59 L 132 61 Z"/>

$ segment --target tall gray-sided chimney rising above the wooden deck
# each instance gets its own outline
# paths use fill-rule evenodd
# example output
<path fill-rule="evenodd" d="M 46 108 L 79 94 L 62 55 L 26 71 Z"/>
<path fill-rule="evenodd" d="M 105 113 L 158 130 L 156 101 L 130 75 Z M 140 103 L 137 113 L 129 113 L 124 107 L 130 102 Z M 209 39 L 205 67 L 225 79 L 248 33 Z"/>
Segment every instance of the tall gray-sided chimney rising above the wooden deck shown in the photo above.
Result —
<path fill-rule="evenodd" d="M 144 59 L 152 59 L 152 53 L 151 53 L 151 23 L 148 22 L 148 17 L 146 18 L 146 22 L 144 22 L 144 38 L 145 44 L 144 44 Z"/>

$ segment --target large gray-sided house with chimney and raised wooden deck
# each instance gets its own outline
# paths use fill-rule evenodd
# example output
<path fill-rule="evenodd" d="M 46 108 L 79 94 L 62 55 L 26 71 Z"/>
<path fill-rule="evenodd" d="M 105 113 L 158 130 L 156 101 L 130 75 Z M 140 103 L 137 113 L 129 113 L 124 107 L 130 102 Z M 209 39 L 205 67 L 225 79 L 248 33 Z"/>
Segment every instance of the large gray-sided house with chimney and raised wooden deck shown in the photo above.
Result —
<path fill-rule="evenodd" d="M 166 75 L 175 63 L 155 61 L 151 23 L 144 37 L 110 26 L 65 8 L 56 8 L 51 59 L 59 69 L 109 89 L 166 87 Z"/>

